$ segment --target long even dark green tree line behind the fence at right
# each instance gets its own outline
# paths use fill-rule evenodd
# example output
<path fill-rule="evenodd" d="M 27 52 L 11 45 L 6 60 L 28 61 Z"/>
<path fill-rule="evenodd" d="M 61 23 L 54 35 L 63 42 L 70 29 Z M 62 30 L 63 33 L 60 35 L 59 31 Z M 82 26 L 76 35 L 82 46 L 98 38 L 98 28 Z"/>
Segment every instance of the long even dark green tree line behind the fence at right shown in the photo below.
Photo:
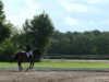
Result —
<path fill-rule="evenodd" d="M 56 31 L 49 54 L 60 55 L 107 55 L 109 54 L 109 32 L 66 32 Z"/>

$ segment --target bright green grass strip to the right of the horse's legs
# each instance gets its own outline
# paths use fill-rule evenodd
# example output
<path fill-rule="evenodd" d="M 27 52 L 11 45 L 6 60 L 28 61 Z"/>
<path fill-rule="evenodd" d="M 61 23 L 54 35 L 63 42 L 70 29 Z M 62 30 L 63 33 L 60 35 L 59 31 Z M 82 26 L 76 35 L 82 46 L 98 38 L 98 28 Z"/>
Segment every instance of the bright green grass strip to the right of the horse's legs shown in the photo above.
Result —
<path fill-rule="evenodd" d="M 43 68 L 109 68 L 109 63 L 104 62 L 39 62 L 35 67 Z"/>

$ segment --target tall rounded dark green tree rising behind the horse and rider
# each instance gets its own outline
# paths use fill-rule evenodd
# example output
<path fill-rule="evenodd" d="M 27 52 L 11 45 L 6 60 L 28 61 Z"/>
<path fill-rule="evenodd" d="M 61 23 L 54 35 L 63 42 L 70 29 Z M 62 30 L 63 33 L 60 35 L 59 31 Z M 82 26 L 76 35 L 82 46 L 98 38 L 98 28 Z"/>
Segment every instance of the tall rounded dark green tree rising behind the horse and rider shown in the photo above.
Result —
<path fill-rule="evenodd" d="M 55 28 L 47 13 L 43 12 L 39 15 L 35 15 L 31 21 L 26 20 L 23 28 L 27 34 L 27 42 L 41 49 L 43 52 L 47 51 Z"/>

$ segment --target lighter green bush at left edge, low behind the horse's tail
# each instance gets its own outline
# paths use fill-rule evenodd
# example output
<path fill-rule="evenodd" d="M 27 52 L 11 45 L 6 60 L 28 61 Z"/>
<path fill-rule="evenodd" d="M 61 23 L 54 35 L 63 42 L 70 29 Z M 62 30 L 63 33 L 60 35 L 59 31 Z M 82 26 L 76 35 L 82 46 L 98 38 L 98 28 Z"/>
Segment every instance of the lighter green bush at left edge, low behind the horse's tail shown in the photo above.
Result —
<path fill-rule="evenodd" d="M 0 61 L 10 61 L 12 56 L 19 50 L 19 45 L 13 44 L 10 39 L 0 45 Z"/>

